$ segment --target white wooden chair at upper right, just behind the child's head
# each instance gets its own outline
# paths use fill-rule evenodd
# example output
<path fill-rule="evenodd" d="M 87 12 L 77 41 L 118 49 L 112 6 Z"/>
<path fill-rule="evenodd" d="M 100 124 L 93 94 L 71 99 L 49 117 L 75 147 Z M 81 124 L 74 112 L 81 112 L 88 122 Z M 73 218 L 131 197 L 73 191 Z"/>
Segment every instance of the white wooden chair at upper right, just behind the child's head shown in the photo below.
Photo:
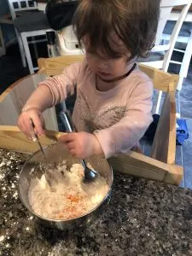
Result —
<path fill-rule="evenodd" d="M 183 25 L 183 21 L 188 13 L 190 8 L 191 0 L 161 0 L 160 2 L 160 20 L 158 24 L 157 34 L 154 42 L 154 48 L 151 50 L 149 57 L 147 59 L 140 58 L 139 62 L 142 62 L 145 65 L 150 67 L 160 68 L 161 70 L 167 72 L 168 67 L 170 65 L 172 52 L 175 48 L 175 44 L 177 42 L 178 34 Z M 162 44 L 163 32 L 166 27 L 166 23 L 169 20 L 169 17 L 172 13 L 172 9 L 180 6 L 182 11 L 177 16 L 177 22 L 175 23 L 174 29 L 172 30 L 172 34 L 169 37 L 168 41 L 165 41 L 166 44 Z M 188 53 L 187 53 L 188 54 Z M 185 58 L 187 55 L 185 55 Z M 184 59 L 185 60 L 185 59 Z M 182 61 L 182 65 L 186 63 L 186 61 Z M 183 82 L 183 66 L 181 67 L 181 73 L 179 74 L 179 84 Z M 177 90 L 181 90 L 181 86 L 177 86 Z M 157 106 L 155 113 L 160 112 L 160 100 L 162 96 L 162 91 L 160 90 Z"/>

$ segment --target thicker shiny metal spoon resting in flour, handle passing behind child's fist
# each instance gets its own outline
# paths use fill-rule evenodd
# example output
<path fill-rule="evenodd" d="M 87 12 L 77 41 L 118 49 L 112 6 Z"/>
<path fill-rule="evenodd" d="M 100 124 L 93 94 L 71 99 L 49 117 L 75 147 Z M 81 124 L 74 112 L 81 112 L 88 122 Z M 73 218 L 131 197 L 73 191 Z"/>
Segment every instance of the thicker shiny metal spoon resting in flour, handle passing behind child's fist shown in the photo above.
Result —
<path fill-rule="evenodd" d="M 73 121 L 71 118 L 71 115 L 68 111 L 61 111 L 60 113 L 60 118 L 61 121 L 63 123 L 63 125 L 65 125 L 67 132 L 73 132 L 76 131 L 74 125 L 73 125 Z M 81 160 L 81 164 L 84 167 L 84 178 L 83 178 L 83 182 L 84 183 L 91 183 L 95 180 L 95 178 L 97 177 L 97 172 L 93 169 L 90 169 L 86 162 L 83 160 Z"/>

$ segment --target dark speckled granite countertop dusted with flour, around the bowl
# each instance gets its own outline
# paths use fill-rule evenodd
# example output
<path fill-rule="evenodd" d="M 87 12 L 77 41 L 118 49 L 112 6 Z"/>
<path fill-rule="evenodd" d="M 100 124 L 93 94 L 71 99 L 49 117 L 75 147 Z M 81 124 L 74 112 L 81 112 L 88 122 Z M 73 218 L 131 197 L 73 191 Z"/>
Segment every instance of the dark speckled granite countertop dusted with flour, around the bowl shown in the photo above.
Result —
<path fill-rule="evenodd" d="M 115 174 L 96 221 L 61 231 L 39 225 L 17 183 L 26 155 L 0 149 L 0 255 L 192 255 L 192 191 Z"/>

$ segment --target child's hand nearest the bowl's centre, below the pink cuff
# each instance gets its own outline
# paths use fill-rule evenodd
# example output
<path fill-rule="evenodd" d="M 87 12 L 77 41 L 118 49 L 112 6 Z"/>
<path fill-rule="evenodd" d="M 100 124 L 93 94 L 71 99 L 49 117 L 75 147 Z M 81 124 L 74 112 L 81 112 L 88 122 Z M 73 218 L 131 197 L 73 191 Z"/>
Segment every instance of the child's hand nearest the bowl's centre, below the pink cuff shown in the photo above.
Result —
<path fill-rule="evenodd" d="M 88 132 L 72 132 L 63 135 L 59 139 L 65 143 L 68 151 L 79 159 L 84 159 L 93 154 L 103 154 L 102 147 L 96 136 Z"/>

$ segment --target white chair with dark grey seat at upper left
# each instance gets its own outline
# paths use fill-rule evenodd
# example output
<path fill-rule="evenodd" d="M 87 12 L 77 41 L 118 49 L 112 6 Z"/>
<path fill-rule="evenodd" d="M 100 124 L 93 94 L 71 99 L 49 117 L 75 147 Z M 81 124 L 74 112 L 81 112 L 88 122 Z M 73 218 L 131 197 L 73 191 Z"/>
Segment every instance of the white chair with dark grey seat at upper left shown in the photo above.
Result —
<path fill-rule="evenodd" d="M 47 42 L 46 32 L 52 31 L 52 29 L 49 26 L 46 15 L 38 11 L 37 1 L 8 0 L 8 3 L 20 47 L 23 67 L 26 67 L 27 61 L 29 72 L 32 74 L 38 67 L 34 67 L 29 45 L 31 44 L 33 46 L 36 60 L 38 60 L 38 48 L 36 44 Z M 29 40 L 30 38 L 32 40 Z"/>

